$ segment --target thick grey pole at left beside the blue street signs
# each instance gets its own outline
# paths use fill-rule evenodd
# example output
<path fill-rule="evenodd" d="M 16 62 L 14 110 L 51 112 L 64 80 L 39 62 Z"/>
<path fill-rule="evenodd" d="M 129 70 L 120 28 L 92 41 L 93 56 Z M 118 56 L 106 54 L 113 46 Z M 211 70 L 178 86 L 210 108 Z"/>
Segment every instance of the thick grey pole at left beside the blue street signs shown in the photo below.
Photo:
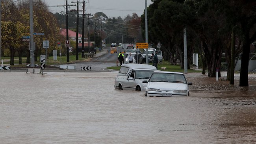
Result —
<path fill-rule="evenodd" d="M 35 45 L 33 25 L 33 0 L 30 0 L 30 67 L 35 67 Z"/>

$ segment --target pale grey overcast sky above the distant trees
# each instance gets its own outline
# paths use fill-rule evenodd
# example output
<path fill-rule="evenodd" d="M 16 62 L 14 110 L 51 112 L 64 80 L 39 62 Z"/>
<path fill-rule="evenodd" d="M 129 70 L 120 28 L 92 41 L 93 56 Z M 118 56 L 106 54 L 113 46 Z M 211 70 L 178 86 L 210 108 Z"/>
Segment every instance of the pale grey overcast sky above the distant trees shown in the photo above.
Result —
<path fill-rule="evenodd" d="M 45 0 L 46 4 L 52 13 L 65 12 L 65 7 L 57 7 L 66 4 L 66 0 Z M 69 5 L 74 5 L 71 2 L 77 2 L 77 0 L 68 0 Z M 79 0 L 83 2 L 83 0 Z M 152 4 L 150 0 L 147 0 L 147 5 Z M 79 9 L 82 9 L 83 4 L 79 5 Z M 94 15 L 96 12 L 103 12 L 108 17 L 126 17 L 126 15 L 137 13 L 140 17 L 145 9 L 145 0 L 85 0 L 85 13 Z M 70 9 L 76 9 L 76 6 L 71 6 Z"/>

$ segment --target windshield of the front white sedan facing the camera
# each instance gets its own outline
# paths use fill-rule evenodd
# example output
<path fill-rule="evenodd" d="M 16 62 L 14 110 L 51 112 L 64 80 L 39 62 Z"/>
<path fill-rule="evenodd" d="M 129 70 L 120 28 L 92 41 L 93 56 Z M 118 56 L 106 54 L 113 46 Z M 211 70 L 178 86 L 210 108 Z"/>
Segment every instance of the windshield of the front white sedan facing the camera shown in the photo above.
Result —
<path fill-rule="evenodd" d="M 187 83 L 183 74 L 153 73 L 148 80 L 155 82 Z"/>

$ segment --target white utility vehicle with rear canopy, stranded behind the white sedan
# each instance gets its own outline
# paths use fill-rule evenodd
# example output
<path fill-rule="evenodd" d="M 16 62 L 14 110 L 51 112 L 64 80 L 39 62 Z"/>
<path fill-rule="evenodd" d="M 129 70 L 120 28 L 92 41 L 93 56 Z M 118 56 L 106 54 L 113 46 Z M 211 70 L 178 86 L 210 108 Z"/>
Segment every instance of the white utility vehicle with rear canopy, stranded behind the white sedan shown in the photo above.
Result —
<path fill-rule="evenodd" d="M 143 80 L 148 80 L 156 70 L 155 66 L 145 64 L 123 64 L 115 78 L 115 89 L 145 91 L 146 84 Z"/>

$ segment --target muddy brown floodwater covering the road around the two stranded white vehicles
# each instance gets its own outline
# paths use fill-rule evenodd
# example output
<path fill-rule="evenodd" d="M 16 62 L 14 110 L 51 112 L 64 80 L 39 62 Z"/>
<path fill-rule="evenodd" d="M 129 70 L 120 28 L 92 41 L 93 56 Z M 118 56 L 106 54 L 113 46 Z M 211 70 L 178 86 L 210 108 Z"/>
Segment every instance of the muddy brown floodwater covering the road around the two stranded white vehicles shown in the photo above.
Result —
<path fill-rule="evenodd" d="M 0 144 L 256 143 L 256 74 L 186 74 L 188 97 L 115 90 L 116 74 L 0 72 Z"/>

